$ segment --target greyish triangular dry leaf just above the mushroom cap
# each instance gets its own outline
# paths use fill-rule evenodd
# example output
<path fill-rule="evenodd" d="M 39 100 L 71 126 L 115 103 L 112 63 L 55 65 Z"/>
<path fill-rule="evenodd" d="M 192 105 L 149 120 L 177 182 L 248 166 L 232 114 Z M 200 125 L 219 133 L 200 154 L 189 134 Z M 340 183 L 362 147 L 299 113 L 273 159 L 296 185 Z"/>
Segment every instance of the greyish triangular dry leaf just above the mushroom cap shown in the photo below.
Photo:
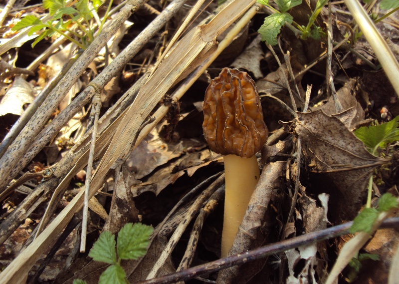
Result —
<path fill-rule="evenodd" d="M 245 48 L 231 66 L 237 69 L 245 69 L 253 73 L 256 79 L 262 78 L 263 74 L 260 70 L 260 60 L 264 57 L 264 52 L 260 46 L 261 35 L 259 34 L 254 40 Z"/>

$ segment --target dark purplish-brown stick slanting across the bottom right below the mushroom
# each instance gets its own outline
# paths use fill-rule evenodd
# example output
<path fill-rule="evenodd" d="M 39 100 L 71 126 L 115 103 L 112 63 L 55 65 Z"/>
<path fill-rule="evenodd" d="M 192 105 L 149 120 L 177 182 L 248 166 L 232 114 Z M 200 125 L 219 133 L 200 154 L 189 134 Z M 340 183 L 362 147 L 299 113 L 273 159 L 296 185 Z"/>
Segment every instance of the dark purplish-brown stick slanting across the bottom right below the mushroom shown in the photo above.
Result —
<path fill-rule="evenodd" d="M 291 249 L 295 249 L 308 244 L 314 244 L 324 240 L 336 238 L 342 235 L 349 234 L 349 228 L 351 228 L 353 222 L 345 223 L 328 229 L 312 232 L 299 237 L 281 241 L 279 243 L 266 245 L 261 248 L 243 252 L 234 256 L 230 256 L 217 261 L 209 262 L 203 265 L 199 265 L 188 270 L 177 272 L 171 275 L 163 277 L 141 281 L 137 284 L 170 284 L 177 281 L 187 281 L 197 276 L 217 272 L 222 269 L 232 267 L 234 265 L 240 265 L 243 263 L 252 262 L 267 256 L 276 255 Z M 395 228 L 399 226 L 399 217 L 390 218 L 384 221 L 381 229 Z"/>

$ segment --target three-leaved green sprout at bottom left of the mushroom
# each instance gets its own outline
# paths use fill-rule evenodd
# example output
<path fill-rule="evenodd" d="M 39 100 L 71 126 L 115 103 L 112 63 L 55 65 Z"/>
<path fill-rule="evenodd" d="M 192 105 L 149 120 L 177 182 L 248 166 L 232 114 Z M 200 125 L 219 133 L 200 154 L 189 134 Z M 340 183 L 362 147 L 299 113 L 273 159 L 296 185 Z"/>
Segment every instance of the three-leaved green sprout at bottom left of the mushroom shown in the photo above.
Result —
<path fill-rule="evenodd" d="M 118 240 L 111 232 L 103 232 L 90 250 L 89 257 L 94 261 L 110 264 L 101 274 L 99 284 L 128 284 L 122 260 L 137 260 L 147 253 L 149 238 L 154 229 L 140 223 L 128 223 L 119 231 Z M 115 246 L 116 251 L 115 251 Z M 75 279 L 73 284 L 86 284 Z"/>

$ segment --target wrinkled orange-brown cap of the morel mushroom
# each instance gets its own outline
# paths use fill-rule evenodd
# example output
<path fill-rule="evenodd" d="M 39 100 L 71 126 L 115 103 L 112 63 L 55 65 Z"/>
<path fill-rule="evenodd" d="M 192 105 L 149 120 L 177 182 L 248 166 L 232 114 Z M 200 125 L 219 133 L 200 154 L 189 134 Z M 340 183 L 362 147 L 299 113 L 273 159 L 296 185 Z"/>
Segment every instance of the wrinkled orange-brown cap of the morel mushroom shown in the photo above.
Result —
<path fill-rule="evenodd" d="M 237 69 L 223 68 L 211 80 L 203 101 L 203 135 L 222 155 L 249 158 L 266 143 L 268 130 L 255 82 Z"/>

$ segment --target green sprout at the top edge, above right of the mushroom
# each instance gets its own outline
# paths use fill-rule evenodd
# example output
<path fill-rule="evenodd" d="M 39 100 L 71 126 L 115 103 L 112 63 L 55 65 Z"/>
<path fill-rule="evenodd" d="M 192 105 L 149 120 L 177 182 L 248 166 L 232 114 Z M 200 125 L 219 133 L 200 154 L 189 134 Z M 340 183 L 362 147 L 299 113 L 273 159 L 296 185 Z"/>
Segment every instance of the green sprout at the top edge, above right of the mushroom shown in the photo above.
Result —
<path fill-rule="evenodd" d="M 300 5 L 302 3 L 302 0 L 274 0 L 279 10 L 272 7 L 269 4 L 269 0 L 257 0 L 257 2 L 268 6 L 275 12 L 274 14 L 265 17 L 264 23 L 258 29 L 258 32 L 262 35 L 262 41 L 266 41 L 266 44 L 277 44 L 277 35 L 280 33 L 281 27 L 285 23 L 292 23 L 297 29 L 296 32 L 301 35 L 302 39 L 306 39 L 308 37 L 320 39 L 324 35 L 322 28 L 316 26 L 315 20 L 324 5 L 328 3 L 328 0 L 317 1 L 315 10 L 310 15 L 308 24 L 306 26 L 301 26 L 293 21 L 293 17 L 289 13 L 287 13 L 287 11 L 292 7 Z M 293 28 L 295 29 L 294 26 Z"/>

